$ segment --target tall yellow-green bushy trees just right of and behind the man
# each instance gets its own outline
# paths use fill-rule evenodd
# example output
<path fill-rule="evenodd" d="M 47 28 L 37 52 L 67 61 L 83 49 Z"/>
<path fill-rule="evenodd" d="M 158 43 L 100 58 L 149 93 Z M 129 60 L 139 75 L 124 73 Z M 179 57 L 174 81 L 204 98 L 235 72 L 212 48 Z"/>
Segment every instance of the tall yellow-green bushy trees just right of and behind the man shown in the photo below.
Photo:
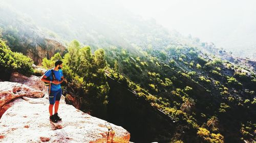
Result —
<path fill-rule="evenodd" d="M 81 47 L 74 40 L 69 44 L 68 53 L 63 59 L 56 53 L 51 60 L 43 59 L 42 65 L 47 69 L 53 68 L 56 60 L 63 61 L 63 74 L 68 80 L 64 93 L 79 98 L 82 111 L 91 111 L 93 116 L 106 118 L 109 85 L 104 74 L 104 50 L 97 49 L 92 54 L 89 46 Z"/>

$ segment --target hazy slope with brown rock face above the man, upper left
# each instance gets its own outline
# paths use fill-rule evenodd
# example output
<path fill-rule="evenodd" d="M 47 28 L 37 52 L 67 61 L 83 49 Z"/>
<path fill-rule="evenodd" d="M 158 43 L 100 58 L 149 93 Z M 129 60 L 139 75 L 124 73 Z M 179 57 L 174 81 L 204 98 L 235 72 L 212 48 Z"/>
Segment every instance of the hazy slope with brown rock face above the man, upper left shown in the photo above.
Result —
<path fill-rule="evenodd" d="M 7 16 L 9 15 L 9 16 Z M 0 6 L 0 28 L 2 37 L 12 51 L 22 52 L 40 65 L 43 58 L 51 58 L 55 53 L 66 53 L 66 47 L 49 30 L 33 24 L 31 19 L 5 6 Z"/>

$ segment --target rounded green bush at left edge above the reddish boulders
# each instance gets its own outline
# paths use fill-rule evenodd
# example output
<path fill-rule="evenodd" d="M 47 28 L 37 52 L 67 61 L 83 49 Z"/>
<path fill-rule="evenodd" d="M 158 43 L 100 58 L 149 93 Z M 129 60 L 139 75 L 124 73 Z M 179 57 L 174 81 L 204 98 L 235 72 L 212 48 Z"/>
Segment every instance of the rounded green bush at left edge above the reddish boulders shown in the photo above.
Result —
<path fill-rule="evenodd" d="M 1 79 L 8 80 L 11 73 L 17 71 L 24 75 L 33 74 L 33 61 L 22 53 L 12 52 L 11 49 L 0 39 L 0 72 Z"/>

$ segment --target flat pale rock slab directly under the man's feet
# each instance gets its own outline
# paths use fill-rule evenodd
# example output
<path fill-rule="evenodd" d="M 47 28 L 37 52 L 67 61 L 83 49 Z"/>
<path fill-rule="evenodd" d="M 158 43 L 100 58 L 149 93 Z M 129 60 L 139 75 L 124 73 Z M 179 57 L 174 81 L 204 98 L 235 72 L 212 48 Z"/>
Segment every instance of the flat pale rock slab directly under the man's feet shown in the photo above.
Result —
<path fill-rule="evenodd" d="M 1 142 L 129 142 L 130 133 L 120 126 L 92 117 L 72 105 L 61 104 L 62 122 L 51 125 L 49 104 L 15 101 L 0 120 Z"/>

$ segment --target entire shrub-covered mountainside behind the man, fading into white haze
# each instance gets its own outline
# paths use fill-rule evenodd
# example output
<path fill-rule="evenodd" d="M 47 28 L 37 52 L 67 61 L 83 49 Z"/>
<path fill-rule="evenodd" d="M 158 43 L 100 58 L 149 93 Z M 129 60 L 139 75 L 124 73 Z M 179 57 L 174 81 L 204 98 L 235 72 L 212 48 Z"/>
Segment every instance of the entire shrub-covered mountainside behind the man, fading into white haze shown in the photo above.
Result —
<path fill-rule="evenodd" d="M 45 68 L 63 60 L 69 83 L 62 89 L 69 104 L 123 126 L 134 142 L 256 140 L 255 61 L 237 58 L 214 43 L 169 32 L 154 20 L 117 13 L 118 9 L 106 12 L 113 16 L 106 19 L 99 11 L 76 3 L 70 6 L 81 11 L 59 11 L 58 15 L 43 9 L 46 6 L 31 6 L 23 10 L 27 20 L 18 15 L 12 22 L 4 13 L 16 12 L 2 6 L 2 38 L 11 50 L 33 59 L 41 50 L 22 43 L 40 42 L 27 31 L 36 31 L 32 37 L 39 36 L 43 43 L 50 37 L 54 44 L 38 45 L 46 52 L 52 49 L 51 54 L 33 60 Z M 42 9 L 28 13 L 38 7 Z M 15 19 L 23 19 L 24 26 Z M 16 29 L 16 37 L 8 31 L 10 26 Z M 35 52 L 28 54 L 28 49 Z M 2 71 L 20 70 L 3 65 Z"/>

